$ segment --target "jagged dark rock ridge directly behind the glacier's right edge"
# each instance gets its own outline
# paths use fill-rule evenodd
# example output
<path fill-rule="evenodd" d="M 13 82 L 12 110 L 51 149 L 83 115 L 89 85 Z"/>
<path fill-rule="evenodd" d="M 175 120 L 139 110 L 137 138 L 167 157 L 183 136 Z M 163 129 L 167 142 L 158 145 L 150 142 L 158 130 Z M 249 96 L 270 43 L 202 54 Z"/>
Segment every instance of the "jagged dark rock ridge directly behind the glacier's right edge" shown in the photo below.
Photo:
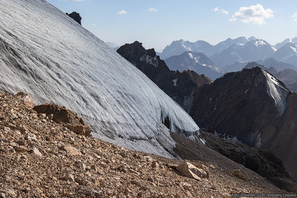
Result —
<path fill-rule="evenodd" d="M 187 113 L 192 108 L 196 89 L 212 82 L 208 77 L 198 75 L 195 71 L 170 71 L 154 49 L 146 50 L 138 41 L 121 46 L 117 52 L 147 75 Z"/>

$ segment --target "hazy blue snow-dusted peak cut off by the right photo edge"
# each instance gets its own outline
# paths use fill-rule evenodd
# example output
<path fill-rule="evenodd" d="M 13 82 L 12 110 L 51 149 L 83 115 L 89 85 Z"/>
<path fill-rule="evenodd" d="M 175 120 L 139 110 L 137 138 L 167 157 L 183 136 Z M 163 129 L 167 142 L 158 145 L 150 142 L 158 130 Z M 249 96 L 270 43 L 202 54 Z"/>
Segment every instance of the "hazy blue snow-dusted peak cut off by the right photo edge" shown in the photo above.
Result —
<path fill-rule="evenodd" d="M 279 48 L 274 54 L 273 58 L 278 61 L 297 65 L 297 45 L 295 43 L 286 43 Z"/>

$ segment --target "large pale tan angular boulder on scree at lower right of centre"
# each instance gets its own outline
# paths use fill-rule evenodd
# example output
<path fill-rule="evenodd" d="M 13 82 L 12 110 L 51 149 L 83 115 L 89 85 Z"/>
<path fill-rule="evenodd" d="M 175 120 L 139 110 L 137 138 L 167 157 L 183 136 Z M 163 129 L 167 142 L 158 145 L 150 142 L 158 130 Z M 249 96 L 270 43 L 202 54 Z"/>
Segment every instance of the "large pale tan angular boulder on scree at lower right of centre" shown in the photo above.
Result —
<path fill-rule="evenodd" d="M 206 178 L 206 176 L 207 176 L 207 173 L 204 170 L 197 168 L 190 162 L 185 162 L 185 163 L 177 166 L 176 169 L 181 174 L 183 174 L 183 176 L 193 178 L 196 180 L 201 180 L 202 178 Z"/>

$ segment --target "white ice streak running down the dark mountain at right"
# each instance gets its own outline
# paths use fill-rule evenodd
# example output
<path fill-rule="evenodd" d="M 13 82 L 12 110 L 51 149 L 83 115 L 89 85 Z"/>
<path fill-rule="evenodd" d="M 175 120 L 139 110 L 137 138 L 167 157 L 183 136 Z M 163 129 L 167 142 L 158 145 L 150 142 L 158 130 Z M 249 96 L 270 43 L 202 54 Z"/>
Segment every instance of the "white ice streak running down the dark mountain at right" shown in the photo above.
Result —
<path fill-rule="evenodd" d="M 285 89 L 278 83 L 276 78 L 270 75 L 267 71 L 262 70 L 267 79 L 267 92 L 273 98 L 275 105 L 278 108 L 278 115 L 282 116 L 286 110 L 286 96 L 289 90 Z"/>

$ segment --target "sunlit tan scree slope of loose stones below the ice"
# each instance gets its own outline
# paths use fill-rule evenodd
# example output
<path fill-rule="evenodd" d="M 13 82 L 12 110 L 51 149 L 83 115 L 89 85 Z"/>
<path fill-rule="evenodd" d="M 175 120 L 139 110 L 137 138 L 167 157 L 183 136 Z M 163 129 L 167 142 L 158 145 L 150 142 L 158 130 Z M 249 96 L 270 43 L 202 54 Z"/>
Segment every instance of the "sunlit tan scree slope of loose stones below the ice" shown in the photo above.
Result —
<path fill-rule="evenodd" d="M 214 151 L 212 155 L 210 151 L 202 152 L 210 161 L 185 163 L 75 134 L 50 118 L 54 117 L 37 114 L 19 99 L 0 92 L 2 198 L 179 198 L 285 193 L 251 170 L 231 160 L 225 163 L 227 158 Z M 183 140 L 182 136 L 172 135 Z M 222 162 L 224 170 L 220 167 Z M 198 180 L 189 178 L 190 172 L 181 168 L 187 170 L 190 166 L 205 175 Z M 226 166 L 238 170 L 226 170 Z"/>

